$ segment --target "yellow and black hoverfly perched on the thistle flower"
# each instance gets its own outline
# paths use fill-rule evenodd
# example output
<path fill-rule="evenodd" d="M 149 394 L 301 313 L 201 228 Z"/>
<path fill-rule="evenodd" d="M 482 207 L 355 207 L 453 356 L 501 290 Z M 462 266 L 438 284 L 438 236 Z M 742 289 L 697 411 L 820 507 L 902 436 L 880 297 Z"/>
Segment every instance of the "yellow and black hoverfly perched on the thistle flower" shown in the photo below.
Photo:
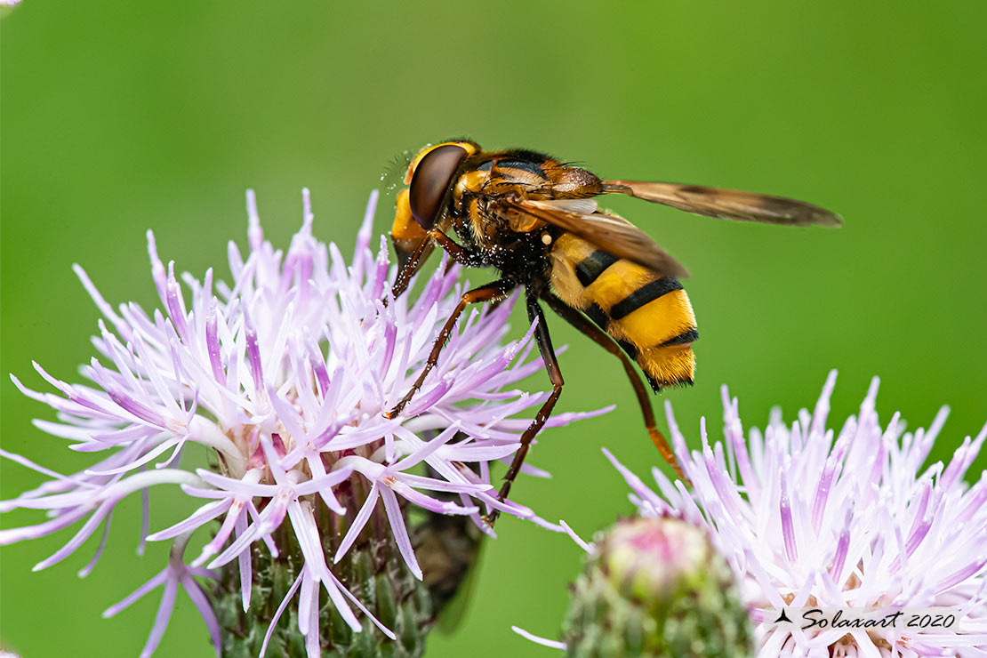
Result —
<path fill-rule="evenodd" d="M 408 288 L 435 245 L 463 265 L 499 270 L 500 278 L 463 295 L 412 390 L 387 415 L 396 416 L 411 401 L 470 304 L 498 302 L 522 287 L 529 320 L 538 321 L 535 339 L 552 393 L 521 436 L 499 491 L 501 500 L 564 384 L 540 301 L 620 359 L 651 441 L 682 476 L 633 362 L 655 393 L 693 383 L 691 345 L 699 334 L 679 283 L 687 273 L 643 231 L 598 209 L 593 197 L 626 194 L 699 215 L 783 226 L 842 224 L 835 213 L 790 198 L 702 185 L 601 180 L 542 153 L 483 151 L 468 140 L 422 149 L 408 167 L 405 184 L 391 230 L 399 264 L 395 296 Z M 459 242 L 449 237 L 450 229 Z M 493 510 L 489 521 L 495 518 Z"/>

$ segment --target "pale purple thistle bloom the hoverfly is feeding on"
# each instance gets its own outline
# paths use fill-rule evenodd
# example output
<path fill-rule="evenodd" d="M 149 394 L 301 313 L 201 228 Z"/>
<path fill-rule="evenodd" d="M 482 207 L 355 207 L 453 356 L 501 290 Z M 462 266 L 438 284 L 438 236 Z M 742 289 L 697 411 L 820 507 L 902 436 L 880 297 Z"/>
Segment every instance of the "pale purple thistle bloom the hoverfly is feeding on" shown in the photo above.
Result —
<path fill-rule="evenodd" d="M 247 610 L 252 547 L 262 542 L 276 556 L 274 532 L 285 525 L 301 548 L 304 568 L 267 634 L 297 592 L 299 631 L 314 658 L 320 655 L 323 588 L 354 631 L 362 629 L 355 607 L 394 637 L 333 572 L 378 502 L 400 554 L 419 579 L 402 505 L 469 515 L 488 534 L 493 532 L 481 512 L 494 508 L 541 522 L 524 506 L 498 501 L 490 477 L 491 463 L 509 460 L 529 423 L 518 414 L 537 408 L 546 397 L 512 388 L 543 366 L 540 359 L 528 359 L 530 330 L 520 341 L 500 344 L 510 303 L 474 311 L 450 337 L 416 398 L 399 417 L 384 417 L 420 372 L 462 286 L 458 267 L 439 267 L 415 301 L 411 295 L 390 296 L 394 271 L 386 241 L 382 238 L 376 257 L 368 249 L 376 198 L 374 193 L 347 266 L 335 245 L 312 237 L 308 190 L 303 192 L 302 228 L 286 253 L 264 240 L 254 195 L 248 192 L 250 251 L 245 258 L 230 243 L 230 285 L 214 281 L 209 269 L 201 280 L 182 275 L 184 291 L 174 262 L 165 266 L 148 232 L 153 279 L 164 309 L 150 315 L 133 303 L 114 310 L 76 265 L 104 316 L 93 339 L 100 357 L 82 368 L 92 385 L 68 384 L 38 364 L 38 374 L 60 395 L 38 393 L 12 376 L 25 395 L 58 412 L 57 422 L 37 420 L 40 429 L 67 439 L 72 450 L 101 459 L 79 473 L 62 475 L 0 450 L 50 477 L 0 502 L 0 511 L 30 508 L 46 510 L 50 517 L 35 526 L 0 531 L 0 545 L 85 520 L 64 547 L 38 562 L 35 569 L 41 569 L 75 552 L 103 525 L 103 540 L 80 571 L 86 575 L 102 553 L 116 503 L 139 493 L 145 519 L 139 548 L 145 540 L 172 540 L 174 546 L 166 568 L 106 615 L 164 586 L 142 656 L 150 655 L 161 639 L 179 584 L 202 614 L 218 654 L 219 628 L 194 578 L 210 578 L 209 569 L 235 560 Z M 557 414 L 548 426 L 595 413 Z M 182 468 L 184 453 L 196 444 L 215 456 L 218 473 Z M 429 467 L 428 476 L 412 472 L 422 464 Z M 327 555 L 326 531 L 316 512 L 325 506 L 337 518 L 345 515 L 336 491 L 352 478 L 365 482 L 369 493 L 348 528 L 342 525 L 346 532 L 335 554 Z M 158 484 L 177 484 L 204 504 L 184 521 L 148 535 L 148 491 Z M 350 496 L 354 490 L 346 487 Z M 427 491 L 443 492 L 445 498 Z M 450 502 L 449 493 L 459 502 Z M 218 527 L 210 524 L 213 520 Z M 186 564 L 186 544 L 202 527 L 211 539 Z"/>

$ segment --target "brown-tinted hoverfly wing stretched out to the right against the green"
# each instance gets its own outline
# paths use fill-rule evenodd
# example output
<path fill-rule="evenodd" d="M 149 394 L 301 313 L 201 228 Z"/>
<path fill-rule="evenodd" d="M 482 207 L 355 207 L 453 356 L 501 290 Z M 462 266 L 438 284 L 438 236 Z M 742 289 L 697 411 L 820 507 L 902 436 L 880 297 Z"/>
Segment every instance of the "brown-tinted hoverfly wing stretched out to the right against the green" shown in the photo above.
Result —
<path fill-rule="evenodd" d="M 843 225 L 839 215 L 812 203 L 738 189 L 643 181 L 604 181 L 603 189 L 719 219 L 767 222 L 783 226 Z"/>

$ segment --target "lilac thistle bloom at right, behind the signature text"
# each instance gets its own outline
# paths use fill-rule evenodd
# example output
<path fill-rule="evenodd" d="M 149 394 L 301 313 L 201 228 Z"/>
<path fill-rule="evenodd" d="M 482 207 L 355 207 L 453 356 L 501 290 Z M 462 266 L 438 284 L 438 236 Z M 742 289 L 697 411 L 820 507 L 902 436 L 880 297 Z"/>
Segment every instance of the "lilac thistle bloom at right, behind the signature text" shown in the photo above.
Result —
<path fill-rule="evenodd" d="M 987 655 L 987 472 L 963 476 L 987 426 L 966 437 L 949 465 L 922 470 L 943 428 L 905 432 L 898 413 L 878 422 L 874 378 L 860 413 L 827 429 L 830 373 L 812 412 L 791 425 L 775 409 L 744 441 L 738 403 L 722 389 L 724 440 L 690 453 L 666 404 L 673 446 L 693 488 L 653 470 L 658 493 L 624 475 L 645 517 L 680 514 L 705 525 L 742 584 L 757 624 L 758 656 Z M 835 440 L 834 440 L 835 439 Z M 606 451 L 605 451 L 606 452 Z M 949 607 L 960 623 L 929 627 L 809 627 L 775 623 L 787 607 Z"/>

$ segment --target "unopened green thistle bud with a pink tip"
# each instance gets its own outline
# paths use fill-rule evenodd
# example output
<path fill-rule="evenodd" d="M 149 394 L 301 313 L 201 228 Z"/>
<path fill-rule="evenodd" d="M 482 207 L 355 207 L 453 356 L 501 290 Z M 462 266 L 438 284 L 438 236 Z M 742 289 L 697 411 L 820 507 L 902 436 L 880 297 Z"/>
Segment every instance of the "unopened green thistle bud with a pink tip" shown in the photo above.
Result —
<path fill-rule="evenodd" d="M 596 546 L 572 588 L 569 656 L 753 655 L 736 579 L 704 530 L 670 517 L 628 519 Z"/>

